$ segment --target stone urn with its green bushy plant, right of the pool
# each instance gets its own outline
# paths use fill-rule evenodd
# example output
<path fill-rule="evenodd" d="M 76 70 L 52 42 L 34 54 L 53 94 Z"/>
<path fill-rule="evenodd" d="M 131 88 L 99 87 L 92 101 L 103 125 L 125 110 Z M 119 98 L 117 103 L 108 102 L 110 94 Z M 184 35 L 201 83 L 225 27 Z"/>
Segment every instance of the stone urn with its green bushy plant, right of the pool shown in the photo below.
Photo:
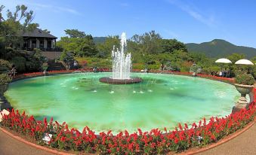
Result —
<path fill-rule="evenodd" d="M 251 74 L 239 74 L 235 78 L 236 90 L 241 93 L 239 101 L 236 102 L 236 106 L 233 107 L 233 112 L 239 111 L 241 108 L 246 108 L 248 102 L 245 98 L 246 94 L 251 93 L 254 88 L 255 80 Z"/>

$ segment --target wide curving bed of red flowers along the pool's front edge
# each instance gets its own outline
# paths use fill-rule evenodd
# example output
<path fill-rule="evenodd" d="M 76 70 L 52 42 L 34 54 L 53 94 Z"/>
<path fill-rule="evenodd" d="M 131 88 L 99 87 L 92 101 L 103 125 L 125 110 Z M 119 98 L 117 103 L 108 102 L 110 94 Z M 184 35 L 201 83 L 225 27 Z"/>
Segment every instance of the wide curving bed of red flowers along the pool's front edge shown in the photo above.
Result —
<path fill-rule="evenodd" d="M 109 131 L 96 135 L 87 126 L 79 132 L 77 129 L 69 129 L 66 123 L 54 122 L 52 118 L 49 122 L 46 118 L 43 121 L 35 120 L 33 116 L 28 116 L 25 112 L 20 114 L 13 109 L 10 114 L 3 116 L 1 126 L 27 135 L 39 144 L 45 144 L 42 140 L 44 133 L 51 133 L 48 145 L 65 150 L 101 154 L 156 154 L 187 150 L 215 142 L 254 120 L 255 114 L 256 106 L 253 103 L 248 110 L 242 109 L 222 118 L 211 117 L 208 123 L 203 119 L 190 127 L 186 123 L 184 126 L 178 124 L 178 128 L 173 131 L 152 129 L 150 132 L 142 132 L 137 129 L 137 132 L 131 134 L 125 131 L 113 135 Z"/>

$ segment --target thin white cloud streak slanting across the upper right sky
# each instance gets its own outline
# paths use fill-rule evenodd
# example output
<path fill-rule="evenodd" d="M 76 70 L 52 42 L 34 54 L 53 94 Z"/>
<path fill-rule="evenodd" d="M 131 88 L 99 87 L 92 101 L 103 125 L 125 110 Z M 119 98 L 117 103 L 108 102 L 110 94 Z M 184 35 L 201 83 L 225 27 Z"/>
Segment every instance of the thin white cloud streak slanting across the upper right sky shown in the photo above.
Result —
<path fill-rule="evenodd" d="M 188 4 L 185 4 L 184 2 L 176 1 L 176 0 L 167 0 L 167 2 L 177 6 L 182 11 L 185 11 L 187 14 L 193 17 L 195 20 L 198 20 L 199 22 L 204 23 L 209 27 L 215 27 L 217 25 L 216 20 L 214 19 L 214 16 L 203 15 L 202 13 L 200 13 L 201 11 L 198 11 L 196 8 L 193 8 L 191 5 L 188 5 Z"/>

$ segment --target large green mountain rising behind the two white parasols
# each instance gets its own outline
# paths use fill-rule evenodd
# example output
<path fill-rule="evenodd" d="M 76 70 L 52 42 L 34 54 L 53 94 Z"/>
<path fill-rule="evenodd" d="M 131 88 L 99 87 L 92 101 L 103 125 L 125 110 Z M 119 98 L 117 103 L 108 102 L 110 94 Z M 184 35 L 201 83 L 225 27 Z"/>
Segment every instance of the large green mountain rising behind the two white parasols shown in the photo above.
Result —
<path fill-rule="evenodd" d="M 214 39 L 201 44 L 189 43 L 186 46 L 189 52 L 205 53 L 206 56 L 210 57 L 224 57 L 232 53 L 243 53 L 248 59 L 256 56 L 256 48 L 236 46 L 222 39 Z"/>

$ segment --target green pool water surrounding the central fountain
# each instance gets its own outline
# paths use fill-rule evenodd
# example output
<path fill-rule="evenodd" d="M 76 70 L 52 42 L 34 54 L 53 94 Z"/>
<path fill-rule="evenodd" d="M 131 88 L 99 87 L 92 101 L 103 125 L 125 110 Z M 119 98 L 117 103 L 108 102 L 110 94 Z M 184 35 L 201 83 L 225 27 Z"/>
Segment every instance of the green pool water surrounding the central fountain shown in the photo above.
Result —
<path fill-rule="evenodd" d="M 98 81 L 111 73 L 60 74 L 11 83 L 5 96 L 14 108 L 36 118 L 54 117 L 71 127 L 114 133 L 137 128 L 173 129 L 202 117 L 230 114 L 235 87 L 218 81 L 170 74 L 132 74 L 141 84 Z"/>

